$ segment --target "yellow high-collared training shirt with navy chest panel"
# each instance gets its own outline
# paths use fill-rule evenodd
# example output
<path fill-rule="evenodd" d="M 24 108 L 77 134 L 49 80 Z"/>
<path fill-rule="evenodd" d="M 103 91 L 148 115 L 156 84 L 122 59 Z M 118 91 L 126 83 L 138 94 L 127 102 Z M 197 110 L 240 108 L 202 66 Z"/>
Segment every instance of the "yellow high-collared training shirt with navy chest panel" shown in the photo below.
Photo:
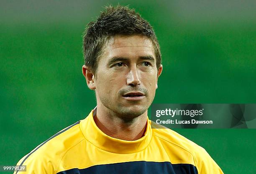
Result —
<path fill-rule="evenodd" d="M 14 174 L 223 174 L 202 147 L 147 119 L 135 141 L 104 134 L 88 117 L 61 130 L 17 165 Z"/>

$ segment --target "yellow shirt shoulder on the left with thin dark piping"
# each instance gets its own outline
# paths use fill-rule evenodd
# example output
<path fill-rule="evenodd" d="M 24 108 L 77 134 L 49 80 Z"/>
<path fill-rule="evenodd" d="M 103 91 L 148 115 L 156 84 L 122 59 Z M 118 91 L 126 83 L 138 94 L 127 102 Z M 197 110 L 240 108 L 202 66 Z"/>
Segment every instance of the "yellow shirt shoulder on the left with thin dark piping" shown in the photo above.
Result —
<path fill-rule="evenodd" d="M 79 123 L 80 121 L 62 129 L 39 144 L 30 153 L 20 159 L 17 165 L 26 165 L 28 173 L 42 173 L 41 171 L 51 171 L 50 173 L 54 173 L 61 158 L 69 149 L 84 140 Z"/>

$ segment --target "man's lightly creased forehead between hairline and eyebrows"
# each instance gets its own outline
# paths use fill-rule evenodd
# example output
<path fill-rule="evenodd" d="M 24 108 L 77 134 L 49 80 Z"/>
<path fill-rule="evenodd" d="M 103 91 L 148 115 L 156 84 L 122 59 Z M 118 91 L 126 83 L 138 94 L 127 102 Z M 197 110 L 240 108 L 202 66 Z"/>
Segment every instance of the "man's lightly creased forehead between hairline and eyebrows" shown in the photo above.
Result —
<path fill-rule="evenodd" d="M 141 35 L 112 37 L 105 47 L 106 57 L 140 57 L 152 56 L 155 58 L 154 47 L 148 37 Z M 104 56 L 104 57 L 105 57 Z"/>

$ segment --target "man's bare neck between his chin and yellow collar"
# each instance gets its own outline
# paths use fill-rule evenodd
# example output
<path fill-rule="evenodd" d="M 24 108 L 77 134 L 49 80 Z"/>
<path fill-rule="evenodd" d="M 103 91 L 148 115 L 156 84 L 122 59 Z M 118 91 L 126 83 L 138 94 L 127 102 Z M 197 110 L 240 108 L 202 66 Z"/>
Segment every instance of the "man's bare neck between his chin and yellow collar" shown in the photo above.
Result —
<path fill-rule="evenodd" d="M 108 111 L 104 106 L 98 106 L 93 119 L 97 127 L 108 136 L 133 141 L 144 135 L 147 111 L 136 118 L 127 119 Z"/>

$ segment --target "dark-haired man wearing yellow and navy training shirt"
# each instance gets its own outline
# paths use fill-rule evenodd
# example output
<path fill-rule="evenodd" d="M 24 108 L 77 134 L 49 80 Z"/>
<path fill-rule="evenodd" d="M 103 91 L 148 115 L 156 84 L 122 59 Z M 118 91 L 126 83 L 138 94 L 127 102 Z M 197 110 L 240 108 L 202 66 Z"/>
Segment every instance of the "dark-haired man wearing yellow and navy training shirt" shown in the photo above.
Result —
<path fill-rule="evenodd" d="M 26 173 L 223 173 L 202 147 L 148 119 L 163 67 L 156 35 L 138 13 L 106 7 L 88 24 L 84 59 L 97 107 L 20 159 Z"/>

